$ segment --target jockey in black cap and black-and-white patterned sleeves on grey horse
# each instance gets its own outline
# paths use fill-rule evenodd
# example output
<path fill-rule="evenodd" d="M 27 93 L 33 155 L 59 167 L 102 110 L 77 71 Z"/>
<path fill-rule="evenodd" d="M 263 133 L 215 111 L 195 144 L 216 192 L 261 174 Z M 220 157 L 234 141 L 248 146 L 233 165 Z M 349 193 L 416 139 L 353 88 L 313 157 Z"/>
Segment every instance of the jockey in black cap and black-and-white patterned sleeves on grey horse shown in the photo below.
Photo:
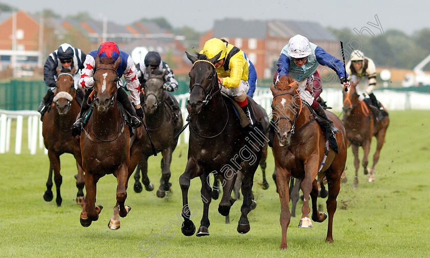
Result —
<path fill-rule="evenodd" d="M 142 67 L 140 63 L 136 65 L 137 78 L 139 78 L 141 88 L 144 87 L 146 80 L 149 78 L 148 70 L 150 70 L 151 73 L 155 72 L 156 74 L 163 74 L 164 72 L 166 72 L 163 78 L 164 88 L 169 92 L 174 92 L 178 90 L 178 81 L 175 79 L 173 71 L 169 68 L 166 62 L 161 60 L 161 56 L 158 52 L 149 51 L 145 56 L 144 65 L 144 67 Z M 177 119 L 178 116 L 181 114 L 181 110 L 173 99 L 175 97 L 171 94 L 167 95 L 168 98 L 166 100 L 168 101 L 169 106 L 171 106 L 171 109 L 175 114 L 175 119 Z"/>

